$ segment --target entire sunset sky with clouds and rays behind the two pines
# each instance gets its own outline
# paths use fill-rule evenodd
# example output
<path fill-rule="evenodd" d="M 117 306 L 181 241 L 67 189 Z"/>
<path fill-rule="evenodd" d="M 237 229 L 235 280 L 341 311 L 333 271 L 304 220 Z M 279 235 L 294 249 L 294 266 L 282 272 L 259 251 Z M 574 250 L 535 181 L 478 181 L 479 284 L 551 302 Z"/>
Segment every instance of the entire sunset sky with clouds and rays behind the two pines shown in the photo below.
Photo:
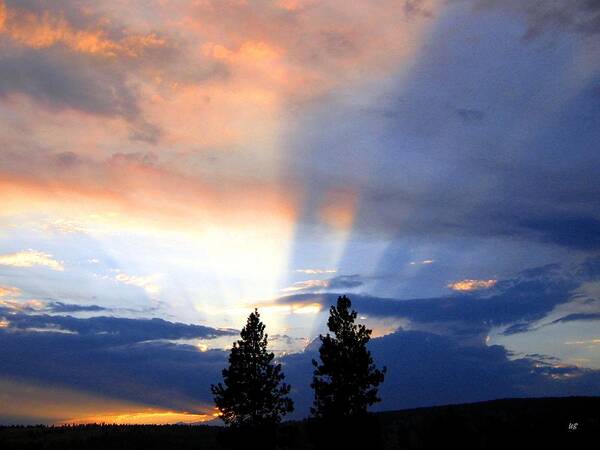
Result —
<path fill-rule="evenodd" d="M 204 422 L 256 307 L 305 417 L 600 394 L 600 2 L 0 0 L 0 423 Z M 317 341 L 318 342 L 318 341 Z"/>

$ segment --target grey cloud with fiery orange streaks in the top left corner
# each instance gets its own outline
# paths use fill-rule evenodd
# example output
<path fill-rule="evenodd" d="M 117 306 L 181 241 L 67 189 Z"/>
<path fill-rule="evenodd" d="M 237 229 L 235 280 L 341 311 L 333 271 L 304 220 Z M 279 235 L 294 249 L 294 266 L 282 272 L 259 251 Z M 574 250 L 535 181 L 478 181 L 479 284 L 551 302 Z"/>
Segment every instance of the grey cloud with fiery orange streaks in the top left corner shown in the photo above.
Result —
<path fill-rule="evenodd" d="M 72 1 L 0 4 L 0 98 L 22 104 L 24 95 L 51 113 L 120 118 L 132 140 L 158 142 L 161 129 L 144 118 L 134 80 L 175 55 L 166 36 Z"/>

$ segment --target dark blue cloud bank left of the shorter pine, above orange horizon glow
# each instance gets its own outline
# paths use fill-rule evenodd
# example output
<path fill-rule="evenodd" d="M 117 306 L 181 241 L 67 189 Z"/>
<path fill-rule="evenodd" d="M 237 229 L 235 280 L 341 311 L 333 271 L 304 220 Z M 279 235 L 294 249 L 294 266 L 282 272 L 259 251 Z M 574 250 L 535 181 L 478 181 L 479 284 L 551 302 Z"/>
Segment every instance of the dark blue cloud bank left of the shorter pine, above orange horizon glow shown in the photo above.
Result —
<path fill-rule="evenodd" d="M 200 353 L 165 340 L 236 333 L 162 319 L 5 316 L 0 376 L 68 387 L 189 411 L 225 363 L 220 351 Z"/>

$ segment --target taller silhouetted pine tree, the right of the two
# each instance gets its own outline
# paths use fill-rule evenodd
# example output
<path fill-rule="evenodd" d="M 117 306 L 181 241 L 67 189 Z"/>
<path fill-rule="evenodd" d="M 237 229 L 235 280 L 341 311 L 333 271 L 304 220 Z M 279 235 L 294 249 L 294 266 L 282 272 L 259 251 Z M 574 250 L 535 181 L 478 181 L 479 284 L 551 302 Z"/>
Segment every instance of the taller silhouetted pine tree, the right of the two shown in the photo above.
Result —
<path fill-rule="evenodd" d="M 367 343 L 371 330 L 355 324 L 356 311 L 346 296 L 339 297 L 329 310 L 327 326 L 333 336 L 320 335 L 321 364 L 315 367 L 311 387 L 315 399 L 311 412 L 316 417 L 340 418 L 366 414 L 367 408 L 380 401 L 378 386 L 385 367 L 377 369 Z"/>

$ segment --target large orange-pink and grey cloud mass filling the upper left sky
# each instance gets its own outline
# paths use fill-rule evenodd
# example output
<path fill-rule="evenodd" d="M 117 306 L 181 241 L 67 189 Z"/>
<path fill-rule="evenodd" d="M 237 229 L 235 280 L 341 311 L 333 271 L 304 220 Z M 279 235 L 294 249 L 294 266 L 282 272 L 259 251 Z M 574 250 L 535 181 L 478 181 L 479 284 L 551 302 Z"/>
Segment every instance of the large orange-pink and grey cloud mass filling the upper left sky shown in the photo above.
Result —
<path fill-rule="evenodd" d="M 170 225 L 182 215 L 193 224 L 198 215 L 204 219 L 207 205 L 196 206 L 198 191 L 210 197 L 216 220 L 223 209 L 225 216 L 252 211 L 254 220 L 260 210 L 261 217 L 287 220 L 301 194 L 295 180 L 274 173 L 286 165 L 275 162 L 284 150 L 273 151 L 286 109 L 304 109 L 330 90 L 369 78 L 369 64 L 382 73 L 395 70 L 392 60 L 410 58 L 429 26 L 409 20 L 391 0 L 297 9 L 273 2 L 160 3 L 142 15 L 132 13 L 136 3 L 110 9 L 67 0 L 2 4 L 0 102 L 15 122 L 6 125 L 13 130 L 6 140 L 27 166 L 15 171 L 7 161 L 3 181 L 41 198 L 14 203 L 48 215 L 59 199 L 71 203 L 64 197 L 85 196 L 88 208 L 102 210 L 147 203 L 147 211 Z M 240 28 L 242 20 L 247 25 Z M 385 55 L 389 46 L 392 55 Z M 131 151 L 123 149 L 125 140 Z M 146 153 L 158 144 L 164 145 L 155 149 L 156 166 L 166 170 L 138 172 L 153 194 L 135 173 L 123 177 L 102 164 L 110 154 Z M 38 152 L 48 162 L 58 153 L 77 158 L 68 169 L 38 166 Z M 162 176 L 165 171 L 174 178 Z M 49 194 L 47 184 L 64 197 Z M 130 219 L 143 214 L 138 208 L 128 209 Z M 350 226 L 348 208 L 331 204 L 322 212 L 332 226 Z"/>

